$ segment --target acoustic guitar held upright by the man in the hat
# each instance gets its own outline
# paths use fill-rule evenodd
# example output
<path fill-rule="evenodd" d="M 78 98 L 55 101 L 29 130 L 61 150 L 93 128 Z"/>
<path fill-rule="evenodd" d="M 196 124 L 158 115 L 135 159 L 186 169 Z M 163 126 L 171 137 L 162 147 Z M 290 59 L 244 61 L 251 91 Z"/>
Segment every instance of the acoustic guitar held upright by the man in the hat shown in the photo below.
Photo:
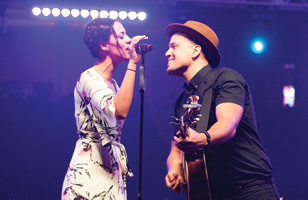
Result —
<path fill-rule="evenodd" d="M 201 105 L 198 104 L 198 99 L 199 96 L 190 96 L 187 104 L 183 105 L 185 110 L 181 119 L 172 116 L 178 123 L 169 124 L 179 128 L 183 139 L 189 135 L 188 125 L 199 121 L 197 112 L 201 109 Z M 187 186 L 187 200 L 211 200 L 203 148 L 194 153 L 182 151 L 182 175 L 183 182 Z"/>

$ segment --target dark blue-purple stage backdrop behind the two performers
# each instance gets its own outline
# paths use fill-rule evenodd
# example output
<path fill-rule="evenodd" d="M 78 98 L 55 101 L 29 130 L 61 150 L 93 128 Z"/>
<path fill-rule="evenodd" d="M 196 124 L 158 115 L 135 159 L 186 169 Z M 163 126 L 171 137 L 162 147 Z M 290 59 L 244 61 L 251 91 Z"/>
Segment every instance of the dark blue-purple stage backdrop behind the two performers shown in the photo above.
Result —
<path fill-rule="evenodd" d="M 166 73 L 165 28 L 188 20 L 202 22 L 219 38 L 219 67 L 241 73 L 251 87 L 259 134 L 271 158 L 284 199 L 305 199 L 308 153 L 308 9 L 292 6 L 205 3 L 205 1 L 3 1 L 0 4 L 0 199 L 60 199 L 62 183 L 78 139 L 73 90 L 79 75 L 94 64 L 83 44 L 90 19 L 34 17 L 33 6 L 87 7 L 145 11 L 143 21 L 122 21 L 127 34 L 147 35 L 154 49 L 146 54 L 143 199 L 185 199 L 165 186 L 170 151 L 171 114 L 184 81 Z M 245 2 L 245 1 L 242 1 Z M 258 1 L 255 1 L 258 2 Z M 260 1 L 262 2 L 262 1 Z M 269 1 L 271 2 L 271 1 Z M 303 3 L 297 6 L 296 3 Z M 6 8 L 6 9 L 5 9 Z M 260 54 L 250 45 L 266 41 Z M 285 64 L 294 64 L 285 69 Z M 114 79 L 121 84 L 127 63 Z M 293 85 L 295 106 L 283 107 L 282 88 Z M 127 197 L 137 199 L 139 166 L 139 73 L 122 143 L 133 177 Z"/>

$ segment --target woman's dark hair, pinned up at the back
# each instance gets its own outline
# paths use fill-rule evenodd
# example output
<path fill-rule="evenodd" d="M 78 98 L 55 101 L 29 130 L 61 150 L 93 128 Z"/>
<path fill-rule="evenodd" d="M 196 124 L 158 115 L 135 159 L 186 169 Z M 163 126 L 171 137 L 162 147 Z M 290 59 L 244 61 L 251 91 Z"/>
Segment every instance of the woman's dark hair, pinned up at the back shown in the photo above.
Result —
<path fill-rule="evenodd" d="M 99 42 L 107 42 L 110 35 L 115 35 L 113 24 L 115 20 L 110 18 L 96 18 L 84 28 L 83 41 L 87 45 L 94 58 L 99 58 Z"/>

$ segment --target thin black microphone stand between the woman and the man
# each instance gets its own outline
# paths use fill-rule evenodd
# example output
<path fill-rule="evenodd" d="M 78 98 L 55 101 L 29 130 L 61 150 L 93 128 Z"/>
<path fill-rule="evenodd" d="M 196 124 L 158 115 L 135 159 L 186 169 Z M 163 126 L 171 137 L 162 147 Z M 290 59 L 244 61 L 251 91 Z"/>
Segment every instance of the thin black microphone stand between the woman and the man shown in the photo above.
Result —
<path fill-rule="evenodd" d="M 145 92 L 145 57 L 147 51 L 141 51 L 141 63 L 140 63 L 140 141 L 139 141 L 139 182 L 138 182 L 138 200 L 141 200 L 141 182 L 142 182 L 142 141 L 143 141 L 143 104 L 144 104 L 144 92 Z"/>

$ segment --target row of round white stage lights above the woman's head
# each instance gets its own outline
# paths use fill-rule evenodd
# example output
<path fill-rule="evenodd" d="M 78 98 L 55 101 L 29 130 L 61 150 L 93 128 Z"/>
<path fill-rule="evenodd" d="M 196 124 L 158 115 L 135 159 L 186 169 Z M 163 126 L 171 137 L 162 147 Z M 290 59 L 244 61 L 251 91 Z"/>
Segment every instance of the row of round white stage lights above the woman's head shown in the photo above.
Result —
<path fill-rule="evenodd" d="M 60 10 L 59 8 L 38 8 L 38 7 L 34 7 L 32 8 L 32 13 L 35 16 L 38 16 L 40 14 L 43 14 L 44 16 L 49 16 L 50 14 L 52 14 L 53 16 L 57 17 L 57 16 L 64 16 L 64 17 L 68 17 L 69 15 L 73 16 L 73 17 L 78 17 L 78 16 L 82 16 L 83 18 L 87 18 L 88 16 L 91 16 L 92 19 L 95 18 L 112 18 L 112 19 L 117 19 L 118 17 L 120 19 L 126 19 L 127 17 L 130 20 L 134 20 L 136 18 L 138 18 L 140 21 L 143 21 L 147 15 L 145 12 L 134 12 L 134 11 L 130 11 L 130 12 L 126 12 L 126 11 L 120 11 L 119 13 L 117 11 L 106 11 L 106 10 L 101 10 L 100 12 L 98 10 L 87 10 L 87 9 L 82 9 L 81 11 L 79 11 L 78 9 L 72 9 L 69 10 L 67 8 L 63 8 L 62 10 Z"/>

